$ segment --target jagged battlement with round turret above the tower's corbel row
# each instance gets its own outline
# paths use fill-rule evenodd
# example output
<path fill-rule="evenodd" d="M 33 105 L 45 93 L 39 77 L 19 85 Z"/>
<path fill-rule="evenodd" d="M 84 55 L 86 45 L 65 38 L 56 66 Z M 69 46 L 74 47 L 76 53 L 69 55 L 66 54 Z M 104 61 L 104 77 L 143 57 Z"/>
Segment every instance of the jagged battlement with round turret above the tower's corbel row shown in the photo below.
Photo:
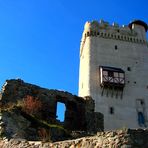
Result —
<path fill-rule="evenodd" d="M 110 33 L 110 34 L 126 35 L 129 37 L 140 37 L 140 34 L 137 31 L 137 28 L 141 32 L 144 31 L 145 33 L 148 30 L 148 25 L 140 20 L 136 20 L 131 22 L 128 25 L 122 25 L 122 26 L 120 26 L 115 22 L 113 22 L 113 24 L 110 25 L 108 22 L 100 20 L 100 22 L 98 21 L 86 22 L 84 27 L 84 32 L 99 31 L 99 32 Z"/>

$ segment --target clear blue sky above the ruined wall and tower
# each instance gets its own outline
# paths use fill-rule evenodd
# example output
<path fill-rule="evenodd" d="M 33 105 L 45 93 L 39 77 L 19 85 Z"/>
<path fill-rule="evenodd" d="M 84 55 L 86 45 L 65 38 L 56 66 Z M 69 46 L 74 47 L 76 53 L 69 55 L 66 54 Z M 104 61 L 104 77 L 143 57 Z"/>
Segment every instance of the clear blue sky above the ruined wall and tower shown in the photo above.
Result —
<path fill-rule="evenodd" d="M 0 0 L 0 86 L 21 78 L 77 94 L 84 23 L 148 23 L 148 0 Z"/>

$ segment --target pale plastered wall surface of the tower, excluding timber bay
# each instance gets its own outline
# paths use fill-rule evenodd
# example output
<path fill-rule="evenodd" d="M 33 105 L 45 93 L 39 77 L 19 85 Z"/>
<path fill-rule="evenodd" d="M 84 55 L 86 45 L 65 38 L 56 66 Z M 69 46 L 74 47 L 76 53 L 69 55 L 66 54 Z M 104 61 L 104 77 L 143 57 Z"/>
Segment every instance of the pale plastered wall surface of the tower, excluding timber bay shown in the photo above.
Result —
<path fill-rule="evenodd" d="M 107 35 L 103 37 L 96 35 L 96 33 L 85 36 L 91 30 L 96 33 L 101 31 L 110 33 L 110 37 L 107 37 Z M 87 24 L 87 28 L 85 27 L 82 38 L 79 95 L 90 95 L 95 100 L 95 111 L 104 114 L 105 129 L 139 127 L 136 108 L 137 99 L 144 100 L 145 119 L 148 120 L 148 45 L 145 43 L 144 35 L 141 37 L 143 33 L 138 35 L 135 32 L 135 34 L 129 35 L 129 28 L 124 28 L 125 32 L 123 34 L 120 33 L 123 28 L 118 30 L 119 32 L 116 32 L 114 27 L 101 28 L 99 25 L 98 28 L 95 27 L 94 29 L 90 23 Z M 111 37 L 111 34 L 116 35 L 116 39 Z M 123 39 L 118 39 L 117 36 L 122 36 Z M 125 36 L 132 37 L 135 40 L 130 41 L 129 39 L 127 41 L 124 39 Z M 138 39 L 137 42 L 136 39 Z M 117 50 L 115 50 L 115 46 L 117 46 Z M 120 95 L 118 97 L 113 95 L 112 97 L 111 92 L 108 96 L 105 92 L 103 96 L 101 95 L 99 66 L 111 66 L 125 71 L 126 84 L 122 98 Z M 128 67 L 131 68 L 131 71 L 127 70 Z M 110 107 L 114 108 L 114 114 L 109 113 Z M 147 121 L 145 123 L 147 124 Z"/>

